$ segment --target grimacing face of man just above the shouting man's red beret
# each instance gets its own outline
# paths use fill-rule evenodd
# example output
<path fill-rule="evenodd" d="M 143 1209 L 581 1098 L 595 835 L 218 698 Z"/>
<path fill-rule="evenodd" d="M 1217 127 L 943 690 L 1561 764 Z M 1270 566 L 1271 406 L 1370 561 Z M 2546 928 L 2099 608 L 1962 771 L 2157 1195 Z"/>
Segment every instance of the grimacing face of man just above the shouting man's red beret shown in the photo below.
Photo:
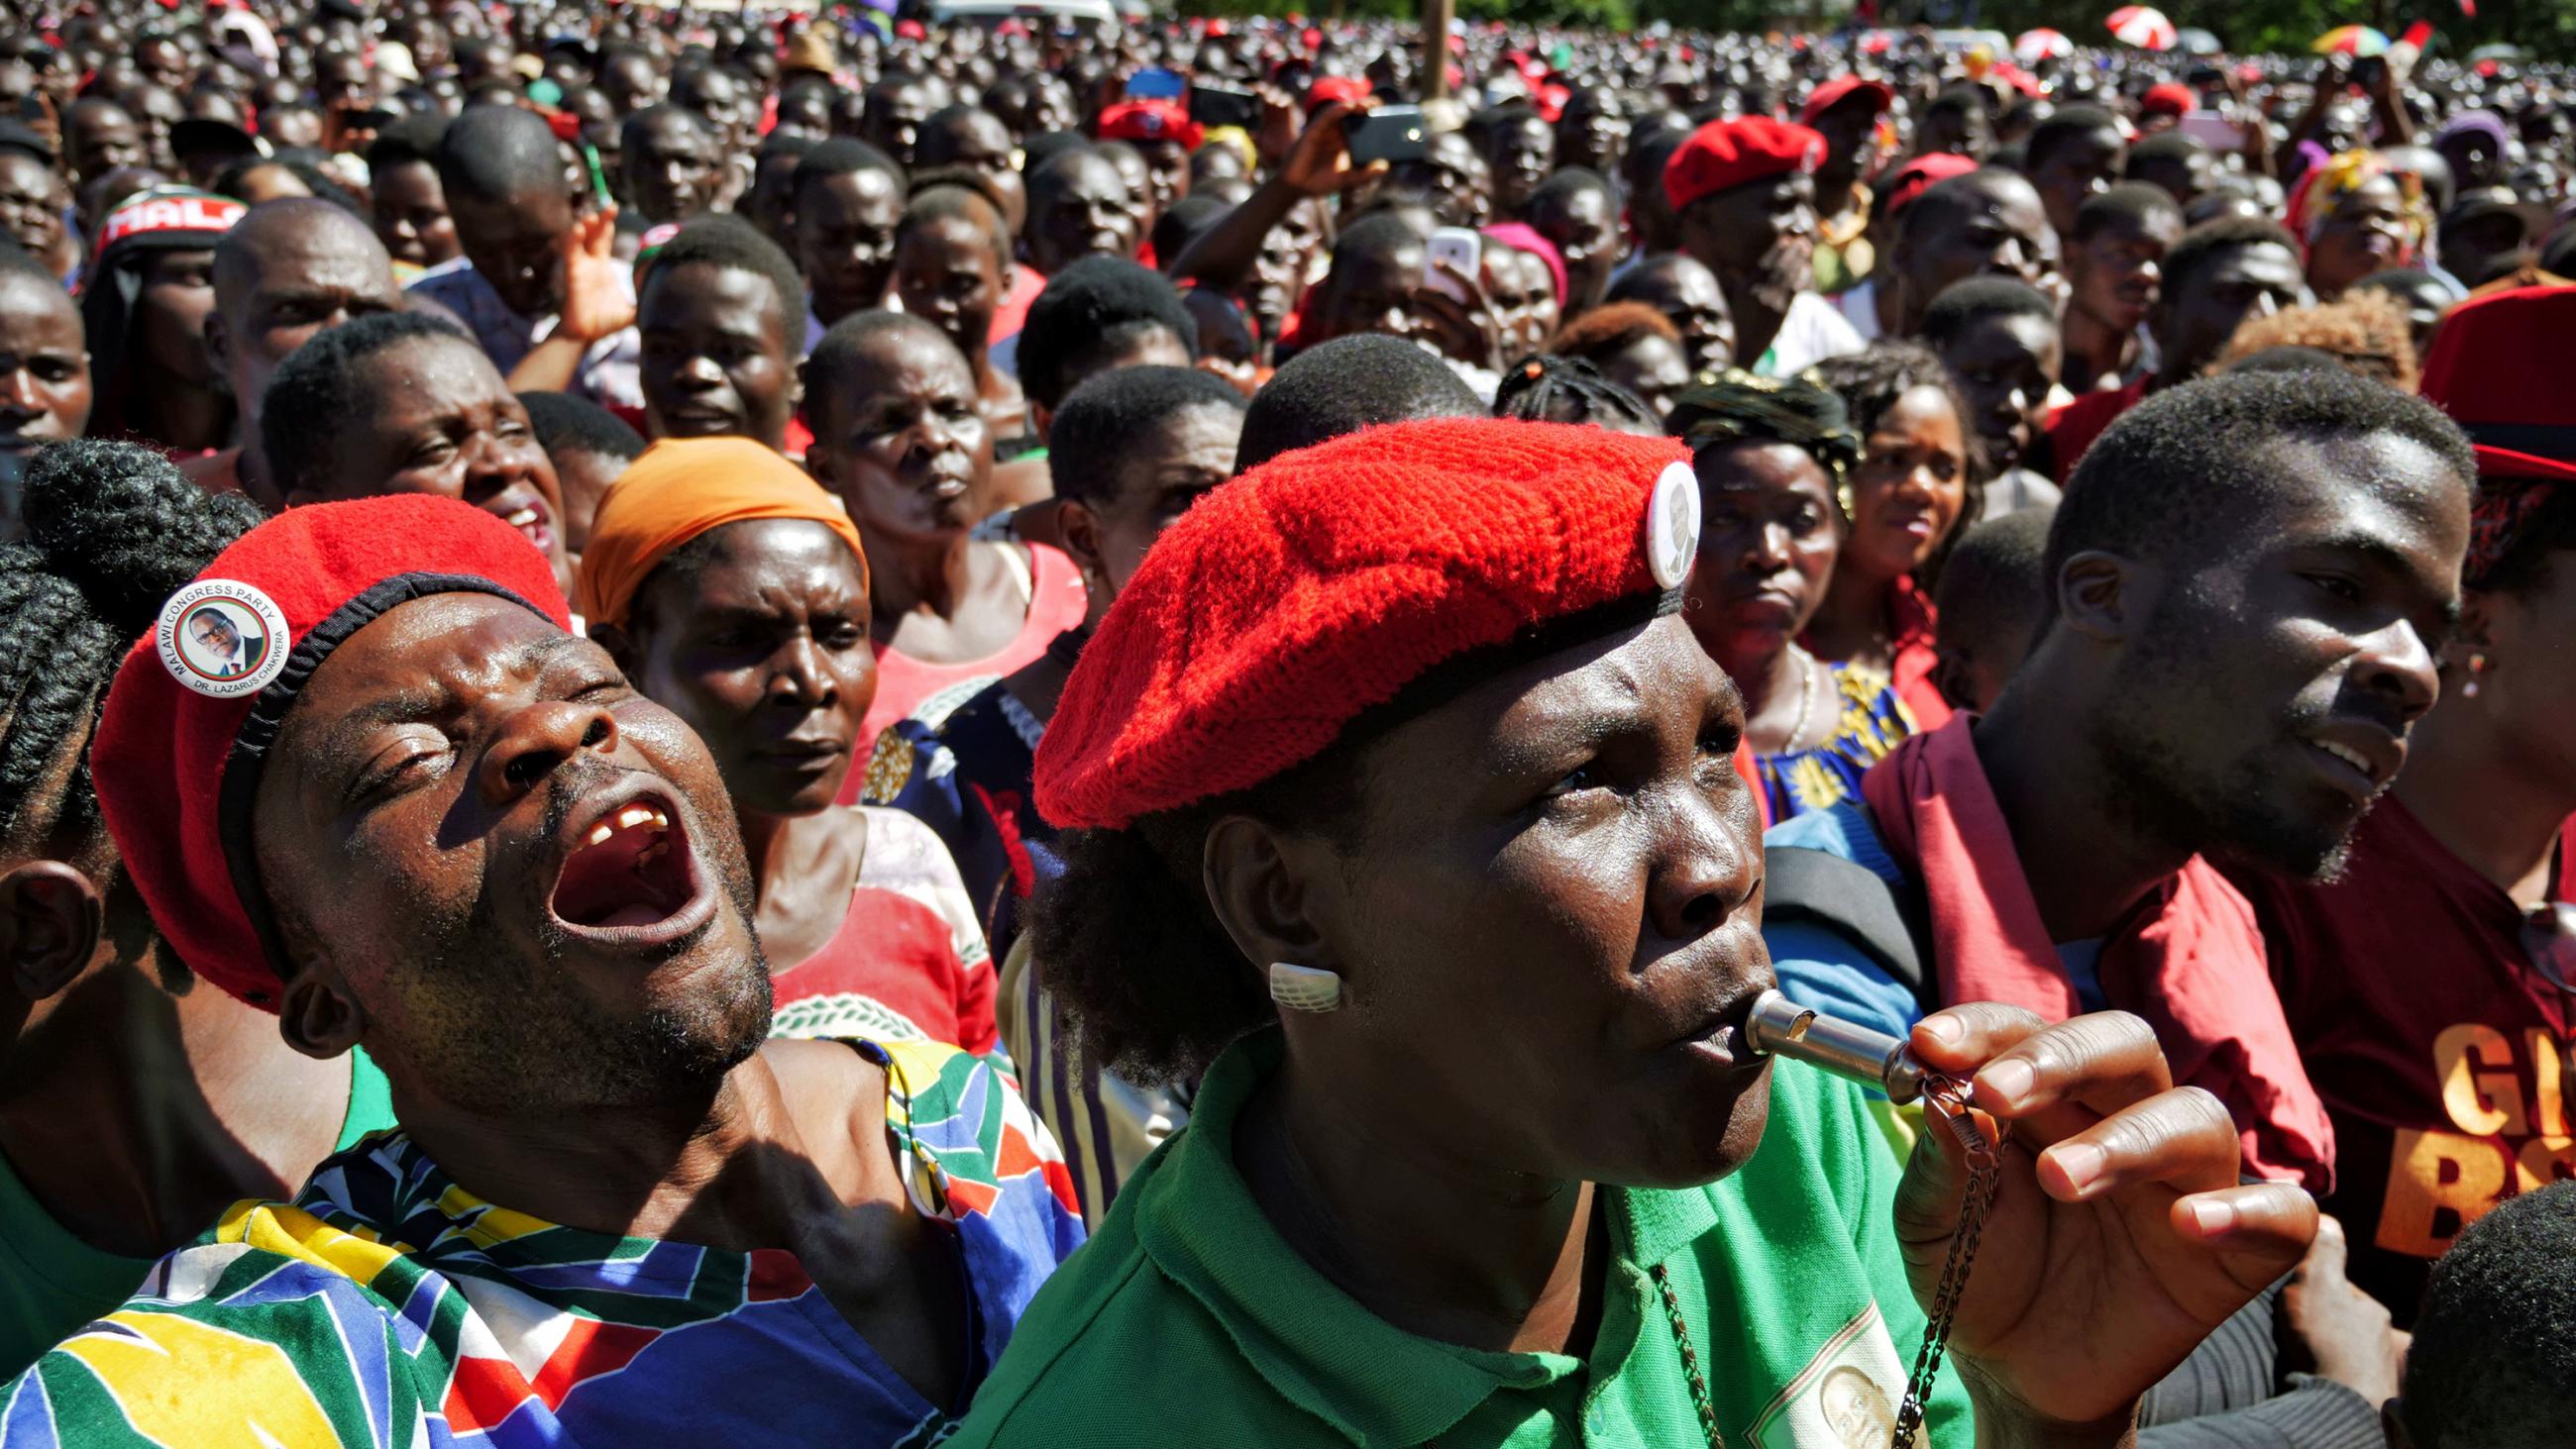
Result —
<path fill-rule="evenodd" d="M 322 499 L 435 494 L 520 530 L 562 571 L 564 494 L 528 409 L 471 342 L 422 337 L 358 363 L 368 404 L 335 435 Z M 291 499 L 294 502 L 294 499 Z"/>

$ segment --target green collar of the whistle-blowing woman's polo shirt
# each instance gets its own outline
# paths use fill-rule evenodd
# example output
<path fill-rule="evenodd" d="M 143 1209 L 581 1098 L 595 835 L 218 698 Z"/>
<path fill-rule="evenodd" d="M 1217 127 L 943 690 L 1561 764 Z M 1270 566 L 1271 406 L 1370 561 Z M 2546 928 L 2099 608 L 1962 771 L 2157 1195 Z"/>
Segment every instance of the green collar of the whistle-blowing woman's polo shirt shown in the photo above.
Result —
<path fill-rule="evenodd" d="M 1280 1053 L 1275 1029 L 1229 1048 L 1198 1089 L 1190 1130 L 1131 1186 L 1136 1243 L 1224 1325 L 1244 1361 L 1280 1398 L 1363 1444 L 1425 1444 L 1497 1390 L 1543 1390 L 1584 1372 L 1564 1354 L 1489 1354 L 1404 1333 L 1278 1235 L 1234 1168 L 1234 1122 Z M 1610 1189 L 1605 1207 L 1613 1256 L 1628 1261 L 1662 1261 L 1716 1225 L 1705 1192 Z M 1651 1243 L 1654 1256 L 1631 1243 Z M 1605 1279 L 1610 1292 L 1620 1277 Z M 1633 1341 L 1633 1328 L 1618 1338 Z M 1615 1369 L 1631 1346 L 1605 1331 L 1595 1372 Z"/>

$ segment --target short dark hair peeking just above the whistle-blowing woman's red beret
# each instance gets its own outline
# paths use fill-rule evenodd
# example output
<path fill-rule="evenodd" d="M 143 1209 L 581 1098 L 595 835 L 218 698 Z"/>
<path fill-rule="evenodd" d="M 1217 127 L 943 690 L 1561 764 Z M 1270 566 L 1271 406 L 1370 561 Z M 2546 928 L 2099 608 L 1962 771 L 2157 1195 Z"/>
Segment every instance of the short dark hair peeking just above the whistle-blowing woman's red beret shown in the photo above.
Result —
<path fill-rule="evenodd" d="M 1417 417 L 1484 417 L 1476 389 L 1404 337 L 1355 332 L 1306 347 L 1252 394 L 1234 471 L 1280 453 Z"/>

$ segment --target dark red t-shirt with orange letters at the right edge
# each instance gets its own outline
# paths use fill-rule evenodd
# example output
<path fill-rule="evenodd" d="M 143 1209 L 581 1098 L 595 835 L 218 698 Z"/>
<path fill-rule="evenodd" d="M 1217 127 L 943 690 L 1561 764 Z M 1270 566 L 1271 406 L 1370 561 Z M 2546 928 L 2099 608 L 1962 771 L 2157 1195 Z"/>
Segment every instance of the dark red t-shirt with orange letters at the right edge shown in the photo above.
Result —
<path fill-rule="evenodd" d="M 2324 1207 L 2352 1238 L 2352 1282 L 2411 1323 L 2460 1228 L 2576 1176 L 2576 1001 L 2530 968 L 2514 901 L 2396 800 L 2362 818 L 2334 885 L 2244 872 L 2236 885 L 2334 1117 Z"/>

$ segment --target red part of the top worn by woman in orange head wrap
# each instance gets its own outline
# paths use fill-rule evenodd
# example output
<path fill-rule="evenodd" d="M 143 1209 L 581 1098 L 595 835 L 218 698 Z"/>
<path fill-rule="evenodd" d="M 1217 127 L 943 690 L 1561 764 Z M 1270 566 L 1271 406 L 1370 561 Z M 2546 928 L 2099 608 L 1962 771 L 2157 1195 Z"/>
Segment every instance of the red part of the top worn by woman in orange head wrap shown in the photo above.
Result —
<path fill-rule="evenodd" d="M 994 973 L 969 970 L 938 911 L 876 885 L 824 947 L 770 978 L 778 1035 L 951 1042 L 989 1053 Z M 909 1027 L 909 1029 L 907 1029 Z"/>

